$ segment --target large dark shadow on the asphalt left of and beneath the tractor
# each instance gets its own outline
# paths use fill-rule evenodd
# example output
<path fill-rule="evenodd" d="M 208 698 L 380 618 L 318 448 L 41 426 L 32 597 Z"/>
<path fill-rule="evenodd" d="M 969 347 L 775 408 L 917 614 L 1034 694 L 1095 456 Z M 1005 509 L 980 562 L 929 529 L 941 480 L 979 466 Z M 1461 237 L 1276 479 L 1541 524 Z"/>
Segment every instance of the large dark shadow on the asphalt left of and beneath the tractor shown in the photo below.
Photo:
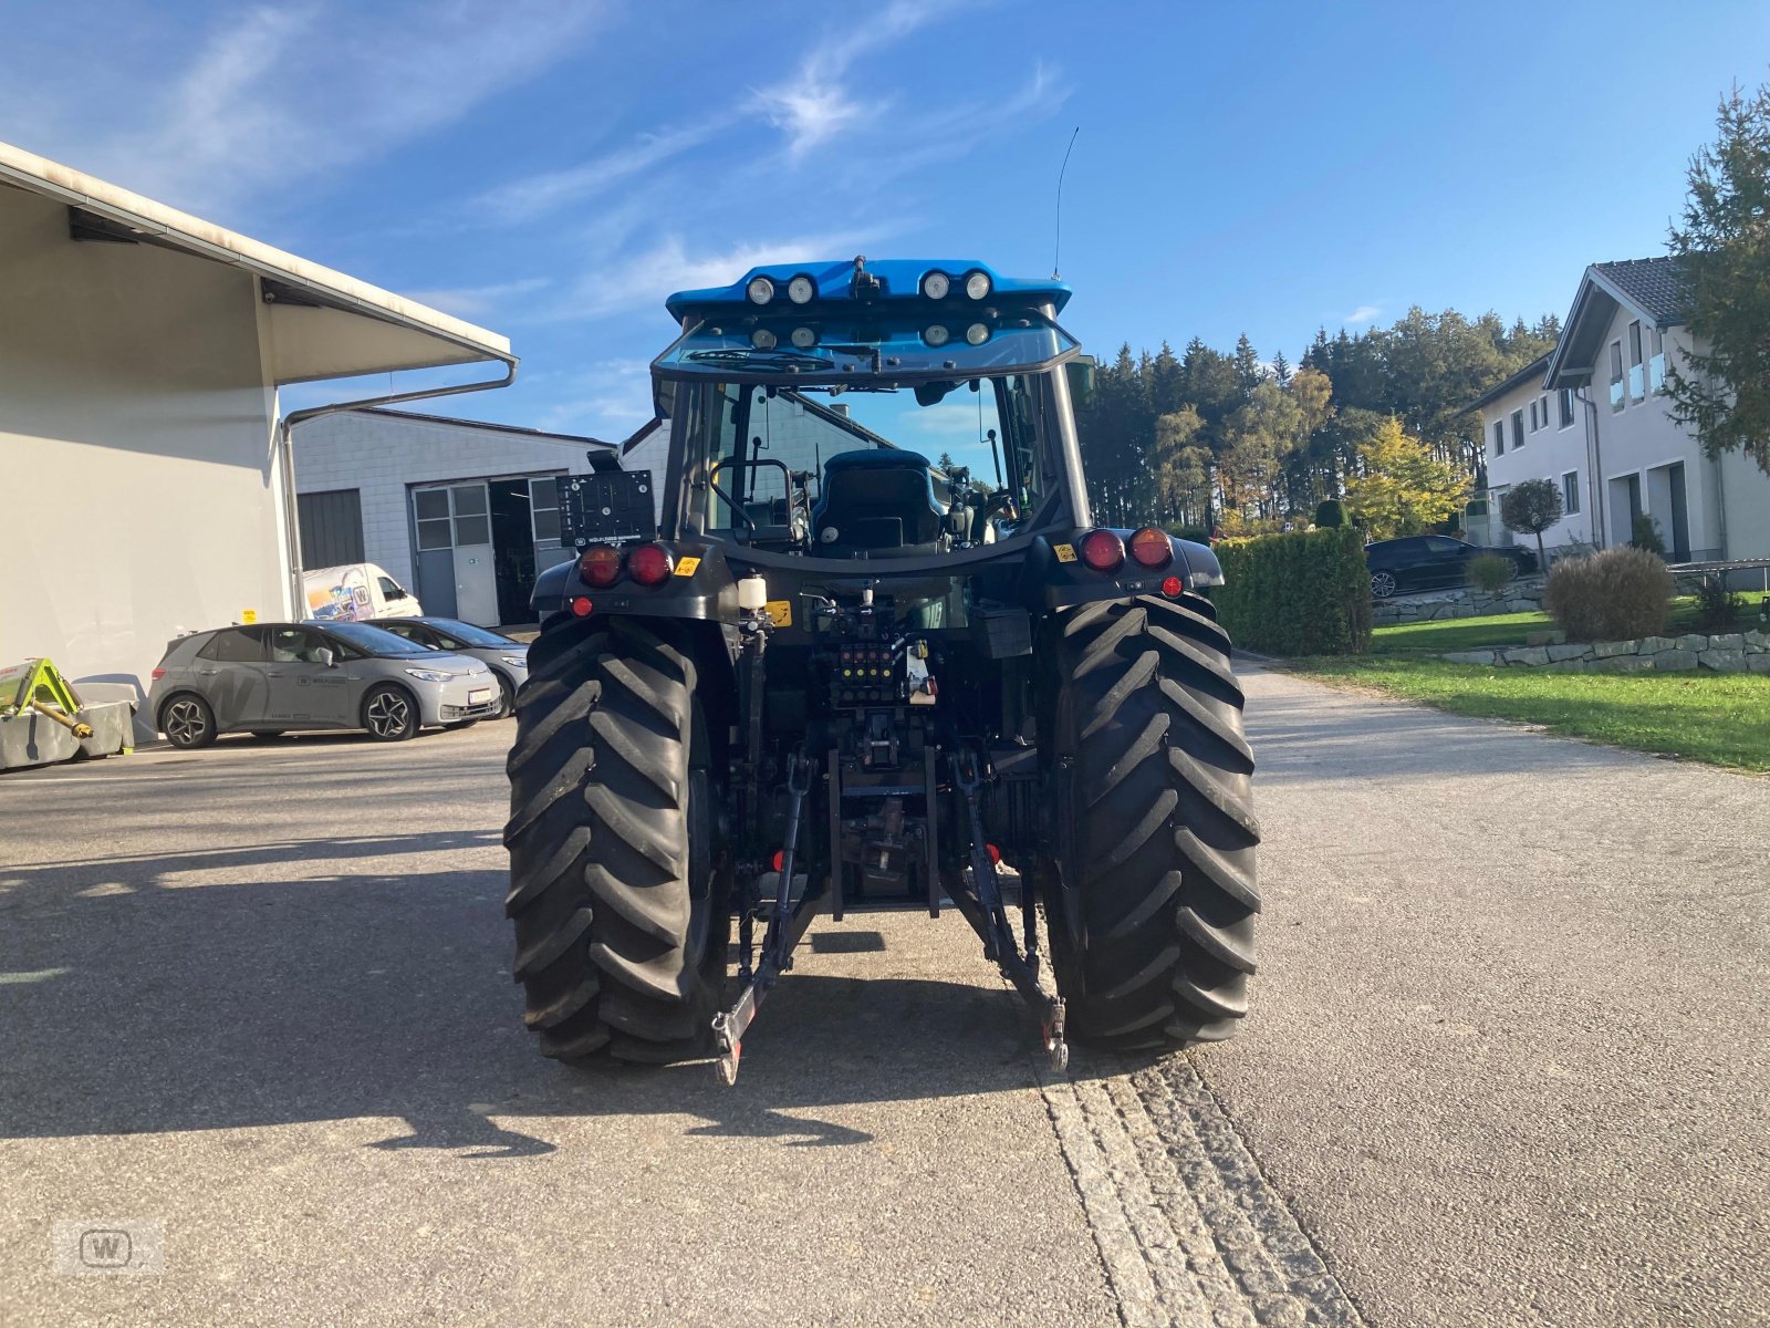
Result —
<path fill-rule="evenodd" d="M 981 958 L 970 986 L 889 976 L 899 965 L 878 953 L 804 953 L 735 1089 L 710 1064 L 543 1061 L 510 979 L 503 868 L 407 857 L 489 852 L 501 857 L 496 832 L 457 830 L 161 855 L 94 845 L 0 868 L 0 1139 L 398 1117 L 373 1147 L 510 1158 L 554 1147 L 520 1117 L 620 1114 L 828 1147 L 871 1135 L 820 1107 L 1032 1082 L 1027 1018 Z M 388 857 L 404 861 L 375 862 Z M 310 875 L 239 880 L 285 861 Z M 331 861 L 338 875 L 312 875 Z"/>

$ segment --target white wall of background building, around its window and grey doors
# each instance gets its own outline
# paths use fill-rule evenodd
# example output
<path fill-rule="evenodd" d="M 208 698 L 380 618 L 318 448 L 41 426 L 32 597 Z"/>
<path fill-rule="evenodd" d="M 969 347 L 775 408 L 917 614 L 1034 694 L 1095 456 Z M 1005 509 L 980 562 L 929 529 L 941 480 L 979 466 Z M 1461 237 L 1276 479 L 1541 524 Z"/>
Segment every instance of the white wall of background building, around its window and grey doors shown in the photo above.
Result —
<path fill-rule="evenodd" d="M 363 551 L 402 586 L 412 567 L 411 489 L 510 475 L 589 469 L 581 439 L 416 420 L 395 413 L 343 411 L 294 430 L 296 492 L 356 489 L 363 503 Z"/>

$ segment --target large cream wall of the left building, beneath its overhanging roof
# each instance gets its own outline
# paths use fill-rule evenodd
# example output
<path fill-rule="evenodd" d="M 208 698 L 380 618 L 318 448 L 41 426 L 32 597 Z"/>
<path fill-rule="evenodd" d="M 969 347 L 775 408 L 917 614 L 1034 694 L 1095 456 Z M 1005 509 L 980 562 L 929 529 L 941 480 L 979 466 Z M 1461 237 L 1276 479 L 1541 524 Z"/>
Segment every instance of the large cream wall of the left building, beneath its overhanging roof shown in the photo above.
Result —
<path fill-rule="evenodd" d="M 248 273 L 0 189 L 0 662 L 133 694 L 177 632 L 285 613 L 257 308 Z"/>

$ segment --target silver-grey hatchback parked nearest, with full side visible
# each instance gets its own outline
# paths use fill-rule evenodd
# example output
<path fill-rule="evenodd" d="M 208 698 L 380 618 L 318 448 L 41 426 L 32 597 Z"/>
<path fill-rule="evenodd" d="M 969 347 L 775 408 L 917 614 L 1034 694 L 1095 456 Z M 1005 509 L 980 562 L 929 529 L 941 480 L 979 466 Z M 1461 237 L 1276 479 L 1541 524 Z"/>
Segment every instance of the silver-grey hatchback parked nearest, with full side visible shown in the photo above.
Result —
<path fill-rule="evenodd" d="M 221 733 L 359 728 L 381 742 L 499 714 L 497 678 L 368 623 L 255 623 L 182 636 L 147 694 L 173 747 Z"/>

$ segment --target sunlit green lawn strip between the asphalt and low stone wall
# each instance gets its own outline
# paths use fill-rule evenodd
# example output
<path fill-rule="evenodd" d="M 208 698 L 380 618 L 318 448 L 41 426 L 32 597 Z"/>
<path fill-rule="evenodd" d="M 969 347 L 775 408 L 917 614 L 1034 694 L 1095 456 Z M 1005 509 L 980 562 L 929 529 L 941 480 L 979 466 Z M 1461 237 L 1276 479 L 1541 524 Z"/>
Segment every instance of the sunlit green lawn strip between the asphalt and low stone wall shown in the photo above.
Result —
<path fill-rule="evenodd" d="M 1476 622 L 1481 620 L 1462 620 Z M 1554 733 L 1616 747 L 1770 772 L 1770 675 L 1763 673 L 1549 673 L 1397 653 L 1297 659 L 1285 668 L 1458 715 L 1542 724 Z"/>

